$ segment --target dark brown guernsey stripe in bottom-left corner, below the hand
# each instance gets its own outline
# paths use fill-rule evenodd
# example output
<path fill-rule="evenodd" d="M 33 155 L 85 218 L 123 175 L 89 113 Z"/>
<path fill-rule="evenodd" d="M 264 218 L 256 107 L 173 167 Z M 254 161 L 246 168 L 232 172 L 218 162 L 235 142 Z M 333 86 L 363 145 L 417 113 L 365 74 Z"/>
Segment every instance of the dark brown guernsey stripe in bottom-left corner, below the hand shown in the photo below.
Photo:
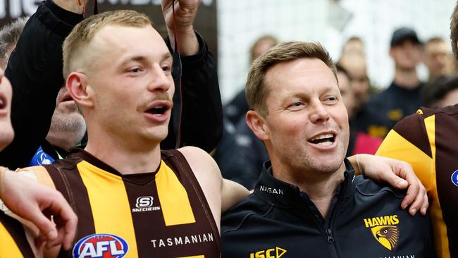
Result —
<path fill-rule="evenodd" d="M 0 211 L 0 223 L 4 225 L 6 231 L 11 235 L 14 242 L 18 246 L 20 252 L 22 252 L 24 257 L 34 257 L 32 248 L 30 248 L 29 242 L 27 242 L 27 238 L 25 237 L 25 231 L 23 225 L 16 221 L 16 219 L 11 218 L 10 216 L 4 214 Z M 0 232 L 4 234 L 5 232 Z"/>

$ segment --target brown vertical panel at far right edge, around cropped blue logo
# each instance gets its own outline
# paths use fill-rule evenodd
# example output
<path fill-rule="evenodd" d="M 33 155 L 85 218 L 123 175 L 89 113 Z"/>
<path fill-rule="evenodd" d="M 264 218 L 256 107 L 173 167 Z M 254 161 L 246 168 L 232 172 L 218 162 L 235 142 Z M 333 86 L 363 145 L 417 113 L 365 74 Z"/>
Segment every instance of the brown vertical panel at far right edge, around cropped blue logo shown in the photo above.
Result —
<path fill-rule="evenodd" d="M 447 225 L 450 256 L 458 257 L 458 187 L 452 184 L 451 179 L 452 173 L 458 170 L 458 114 L 450 116 L 437 113 L 435 116 L 435 166 L 439 202 Z"/>

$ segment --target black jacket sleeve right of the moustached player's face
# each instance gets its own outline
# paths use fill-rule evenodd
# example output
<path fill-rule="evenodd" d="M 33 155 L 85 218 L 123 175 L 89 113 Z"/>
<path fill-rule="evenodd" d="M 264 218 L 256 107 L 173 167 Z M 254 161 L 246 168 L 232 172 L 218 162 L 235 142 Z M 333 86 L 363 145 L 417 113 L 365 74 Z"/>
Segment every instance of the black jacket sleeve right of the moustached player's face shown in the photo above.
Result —
<path fill-rule="evenodd" d="M 182 114 L 181 126 L 179 119 L 173 120 L 173 128 L 169 126 L 168 139 L 162 142 L 162 149 L 175 149 L 176 141 L 171 134 L 180 126 L 180 146 L 195 146 L 211 152 L 223 135 L 223 108 L 219 92 L 216 61 L 209 51 L 206 42 L 197 33 L 199 52 L 193 56 L 181 58 L 182 62 Z M 166 39 L 169 49 L 170 42 Z M 180 81 L 175 81 L 175 93 L 178 92 Z M 174 109 L 173 112 L 179 112 Z M 177 116 L 172 116 L 173 118 Z M 175 137 L 176 139 L 176 137 Z"/>

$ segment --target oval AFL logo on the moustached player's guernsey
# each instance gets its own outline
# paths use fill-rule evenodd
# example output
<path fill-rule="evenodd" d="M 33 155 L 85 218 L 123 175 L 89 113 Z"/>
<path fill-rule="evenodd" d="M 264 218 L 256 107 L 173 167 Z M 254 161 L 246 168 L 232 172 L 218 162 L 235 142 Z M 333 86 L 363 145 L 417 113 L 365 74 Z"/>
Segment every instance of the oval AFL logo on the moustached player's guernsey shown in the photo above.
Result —
<path fill-rule="evenodd" d="M 128 243 L 117 235 L 93 234 L 76 242 L 73 257 L 121 258 L 128 253 L 128 249 Z"/>

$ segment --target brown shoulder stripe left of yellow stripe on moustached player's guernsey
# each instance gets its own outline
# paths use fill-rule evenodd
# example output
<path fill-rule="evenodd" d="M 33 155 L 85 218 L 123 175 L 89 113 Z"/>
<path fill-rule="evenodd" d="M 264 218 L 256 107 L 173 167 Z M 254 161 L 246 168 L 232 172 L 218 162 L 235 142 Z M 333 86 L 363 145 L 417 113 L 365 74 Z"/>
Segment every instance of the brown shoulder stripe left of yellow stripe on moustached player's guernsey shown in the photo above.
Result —
<path fill-rule="evenodd" d="M 82 183 L 76 165 L 81 161 L 76 156 L 56 161 L 53 165 L 46 166 L 49 176 L 54 181 L 56 189 L 67 199 L 70 206 L 78 216 L 77 235 L 73 244 L 86 235 L 95 233 L 91 205 L 85 185 Z M 73 248 L 73 247 L 72 247 Z M 68 253 L 68 254 L 67 254 Z M 59 257 L 70 257 L 70 252 L 61 252 Z"/>

